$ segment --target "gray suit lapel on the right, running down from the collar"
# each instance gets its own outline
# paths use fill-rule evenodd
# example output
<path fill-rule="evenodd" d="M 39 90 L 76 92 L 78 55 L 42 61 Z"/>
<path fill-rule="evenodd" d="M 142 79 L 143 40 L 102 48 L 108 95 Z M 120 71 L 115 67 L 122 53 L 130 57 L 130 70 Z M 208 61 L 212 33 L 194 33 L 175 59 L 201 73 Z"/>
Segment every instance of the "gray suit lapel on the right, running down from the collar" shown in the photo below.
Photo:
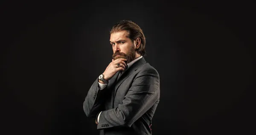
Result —
<path fill-rule="evenodd" d="M 125 79 L 127 79 L 129 76 L 131 76 L 131 74 L 134 73 L 134 71 L 136 71 L 138 68 L 140 68 L 140 66 L 142 66 L 145 63 L 147 63 L 147 62 L 142 57 L 137 62 L 135 62 L 133 65 L 131 65 L 131 67 L 127 71 L 125 71 L 124 73 L 121 74 L 121 76 L 119 77 L 119 79 L 116 82 L 116 86 L 114 87 L 114 97 L 113 97 L 113 100 L 115 99 L 116 91 L 117 91 L 118 87 L 122 84 L 122 82 L 124 82 Z"/>

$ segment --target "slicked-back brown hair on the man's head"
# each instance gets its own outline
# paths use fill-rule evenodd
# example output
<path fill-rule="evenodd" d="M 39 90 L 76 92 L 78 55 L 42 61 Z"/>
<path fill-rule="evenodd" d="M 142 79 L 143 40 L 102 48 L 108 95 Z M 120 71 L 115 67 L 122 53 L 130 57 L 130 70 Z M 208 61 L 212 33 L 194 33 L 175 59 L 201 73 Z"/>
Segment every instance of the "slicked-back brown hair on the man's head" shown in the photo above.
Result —
<path fill-rule="evenodd" d="M 128 32 L 128 38 L 130 38 L 131 41 L 136 40 L 138 37 L 141 39 L 140 47 L 136 51 L 140 55 L 144 55 L 146 53 L 145 51 L 146 39 L 140 26 L 130 20 L 122 20 L 116 23 L 115 25 L 113 25 L 110 31 L 110 35 L 112 33 L 123 31 L 123 30 Z"/>

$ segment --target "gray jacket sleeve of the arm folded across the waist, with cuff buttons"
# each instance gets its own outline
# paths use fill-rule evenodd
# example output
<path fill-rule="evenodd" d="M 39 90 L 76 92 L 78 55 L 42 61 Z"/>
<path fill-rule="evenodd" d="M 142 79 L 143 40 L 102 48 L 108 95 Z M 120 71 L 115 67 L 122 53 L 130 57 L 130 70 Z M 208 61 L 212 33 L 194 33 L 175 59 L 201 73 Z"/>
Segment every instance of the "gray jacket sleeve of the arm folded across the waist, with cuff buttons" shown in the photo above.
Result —
<path fill-rule="evenodd" d="M 97 129 L 131 125 L 160 98 L 160 78 L 157 70 L 140 71 L 134 79 L 122 104 L 102 111 Z"/>

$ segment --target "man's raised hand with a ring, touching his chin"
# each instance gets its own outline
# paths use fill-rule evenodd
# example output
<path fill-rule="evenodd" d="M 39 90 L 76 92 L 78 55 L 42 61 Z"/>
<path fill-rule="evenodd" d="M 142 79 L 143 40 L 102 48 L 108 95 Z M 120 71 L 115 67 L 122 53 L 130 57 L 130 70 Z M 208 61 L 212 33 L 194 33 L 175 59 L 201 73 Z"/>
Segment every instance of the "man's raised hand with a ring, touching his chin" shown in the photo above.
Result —
<path fill-rule="evenodd" d="M 116 60 L 112 59 L 112 62 L 109 63 L 108 67 L 106 68 L 106 70 L 104 71 L 104 79 L 105 80 L 110 80 L 118 71 L 124 71 L 125 67 L 126 67 L 126 62 L 127 59 L 123 59 L 123 58 L 119 58 Z M 118 67 L 117 64 L 120 64 L 120 66 Z"/>

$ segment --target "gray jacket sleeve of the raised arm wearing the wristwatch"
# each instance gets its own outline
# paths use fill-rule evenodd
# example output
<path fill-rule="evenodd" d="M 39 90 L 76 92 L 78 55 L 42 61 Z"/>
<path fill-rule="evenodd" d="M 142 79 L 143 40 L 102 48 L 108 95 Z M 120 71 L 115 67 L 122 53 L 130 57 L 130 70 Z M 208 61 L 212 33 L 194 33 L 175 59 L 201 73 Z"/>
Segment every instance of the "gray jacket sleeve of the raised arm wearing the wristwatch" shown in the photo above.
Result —
<path fill-rule="evenodd" d="M 90 87 L 83 103 L 84 113 L 87 117 L 94 117 L 99 111 L 104 110 L 104 94 L 106 91 L 106 87 L 103 90 L 99 90 L 97 78 Z"/>

